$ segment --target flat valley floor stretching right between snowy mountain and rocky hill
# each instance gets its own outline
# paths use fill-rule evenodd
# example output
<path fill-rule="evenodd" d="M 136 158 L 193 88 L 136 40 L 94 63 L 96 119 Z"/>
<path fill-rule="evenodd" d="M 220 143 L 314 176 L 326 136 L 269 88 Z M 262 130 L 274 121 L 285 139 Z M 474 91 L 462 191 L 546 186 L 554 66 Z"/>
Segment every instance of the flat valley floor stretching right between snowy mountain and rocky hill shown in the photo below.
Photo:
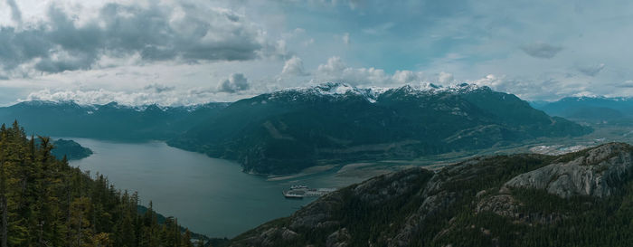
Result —
<path fill-rule="evenodd" d="M 328 164 L 304 169 L 290 176 L 269 176 L 269 181 L 301 181 L 307 177 L 320 176 L 329 185 L 343 187 L 360 183 L 373 176 L 401 171 L 413 166 L 425 166 L 430 170 L 439 170 L 472 157 L 536 153 L 543 155 L 562 155 L 587 147 L 596 147 L 609 142 L 633 143 L 633 126 L 614 126 L 606 124 L 590 125 L 594 131 L 576 138 L 537 138 L 520 144 L 505 147 L 490 147 L 472 151 L 452 152 L 436 156 L 419 157 L 413 160 L 364 160 L 343 164 Z"/>

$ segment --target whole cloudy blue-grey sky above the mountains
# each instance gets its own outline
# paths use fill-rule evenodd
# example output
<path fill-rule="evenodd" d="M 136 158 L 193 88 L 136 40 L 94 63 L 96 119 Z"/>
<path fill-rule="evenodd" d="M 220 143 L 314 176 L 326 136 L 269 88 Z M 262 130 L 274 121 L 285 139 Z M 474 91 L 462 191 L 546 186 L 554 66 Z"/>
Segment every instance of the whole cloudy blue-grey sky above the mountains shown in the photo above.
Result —
<path fill-rule="evenodd" d="M 625 0 L 0 1 L 0 105 L 191 105 L 326 81 L 633 96 Z"/>

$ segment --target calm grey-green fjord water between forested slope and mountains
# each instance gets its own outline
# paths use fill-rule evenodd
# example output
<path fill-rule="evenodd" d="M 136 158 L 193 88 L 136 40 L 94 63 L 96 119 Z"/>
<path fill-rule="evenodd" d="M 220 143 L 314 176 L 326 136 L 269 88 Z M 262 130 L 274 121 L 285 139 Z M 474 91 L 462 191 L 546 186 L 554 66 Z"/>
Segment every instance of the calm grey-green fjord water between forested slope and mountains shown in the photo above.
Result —
<path fill-rule="evenodd" d="M 71 166 L 109 177 L 118 189 L 137 191 L 141 204 L 174 215 L 193 232 L 233 237 L 260 223 L 284 217 L 314 199 L 287 200 L 283 189 L 298 181 L 266 181 L 241 172 L 231 161 L 169 147 L 165 142 L 118 143 L 71 138 L 90 147 L 90 157 Z M 309 181 L 301 181 L 308 183 Z"/>

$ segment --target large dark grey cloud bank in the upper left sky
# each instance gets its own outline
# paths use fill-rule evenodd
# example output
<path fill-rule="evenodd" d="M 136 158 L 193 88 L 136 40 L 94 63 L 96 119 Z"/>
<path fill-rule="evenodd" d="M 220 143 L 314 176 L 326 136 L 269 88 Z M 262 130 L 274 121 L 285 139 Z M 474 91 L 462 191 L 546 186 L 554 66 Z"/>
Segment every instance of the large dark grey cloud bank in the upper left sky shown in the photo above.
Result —
<path fill-rule="evenodd" d="M 108 4 L 95 20 L 78 24 L 52 5 L 47 23 L 24 30 L 0 27 L 0 64 L 13 70 L 34 62 L 37 71 L 60 72 L 90 69 L 103 55 L 139 54 L 149 62 L 244 61 L 266 49 L 259 31 L 241 15 L 179 7 L 184 14 L 174 18 L 173 7 Z M 13 13 L 19 15 L 17 6 Z"/>

